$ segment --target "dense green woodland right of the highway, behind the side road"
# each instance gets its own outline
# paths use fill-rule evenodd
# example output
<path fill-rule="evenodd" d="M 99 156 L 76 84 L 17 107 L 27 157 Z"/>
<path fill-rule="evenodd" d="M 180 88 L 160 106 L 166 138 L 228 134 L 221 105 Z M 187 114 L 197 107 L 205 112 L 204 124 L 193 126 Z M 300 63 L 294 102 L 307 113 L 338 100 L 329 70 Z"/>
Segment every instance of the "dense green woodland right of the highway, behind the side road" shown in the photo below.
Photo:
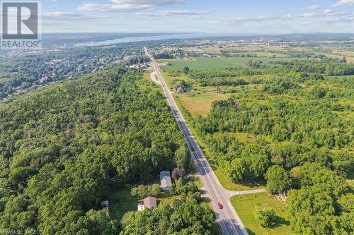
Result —
<path fill-rule="evenodd" d="M 353 75 L 331 60 L 188 71 L 195 86 L 232 93 L 192 119 L 212 160 L 236 183 L 287 192 L 295 234 L 354 232 Z"/>

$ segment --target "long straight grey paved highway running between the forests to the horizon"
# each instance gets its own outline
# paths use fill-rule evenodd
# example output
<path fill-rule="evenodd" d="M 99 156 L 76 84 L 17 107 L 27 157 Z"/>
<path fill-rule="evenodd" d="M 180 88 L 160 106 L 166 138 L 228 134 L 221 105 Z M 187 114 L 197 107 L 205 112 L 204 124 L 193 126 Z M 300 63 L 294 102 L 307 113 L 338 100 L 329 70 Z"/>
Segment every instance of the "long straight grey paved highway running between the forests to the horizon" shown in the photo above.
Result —
<path fill-rule="evenodd" d="M 221 184 L 219 183 L 217 176 L 215 176 L 214 171 L 212 171 L 212 167 L 210 167 L 209 162 L 200 149 L 197 141 L 195 140 L 193 134 L 188 128 L 185 119 L 183 118 L 180 110 L 176 102 L 173 100 L 173 96 L 171 91 L 167 87 L 164 78 L 161 75 L 159 67 L 154 61 L 154 58 L 149 54 L 147 48 L 144 47 L 145 53 L 150 56 L 152 60 L 152 66 L 154 67 L 155 73 L 159 78 L 159 82 L 161 83 L 162 89 L 164 90 L 164 95 L 166 96 L 167 102 L 169 102 L 169 106 L 173 112 L 173 116 L 175 117 L 178 127 L 183 132 L 185 136 L 185 140 L 188 144 L 188 148 L 190 150 L 190 154 L 192 155 L 193 161 L 195 162 L 195 166 L 198 169 L 198 173 L 200 175 L 200 179 L 202 179 L 202 183 L 204 183 L 204 188 L 207 193 L 208 198 L 210 198 L 210 202 L 215 211 L 217 222 L 220 224 L 222 232 L 224 235 L 233 235 L 233 234 L 248 234 L 246 229 L 244 228 L 244 224 L 242 224 L 241 219 L 236 214 L 234 208 L 232 207 L 229 201 L 229 191 L 225 190 Z M 218 206 L 218 203 L 223 205 L 222 208 Z"/>

